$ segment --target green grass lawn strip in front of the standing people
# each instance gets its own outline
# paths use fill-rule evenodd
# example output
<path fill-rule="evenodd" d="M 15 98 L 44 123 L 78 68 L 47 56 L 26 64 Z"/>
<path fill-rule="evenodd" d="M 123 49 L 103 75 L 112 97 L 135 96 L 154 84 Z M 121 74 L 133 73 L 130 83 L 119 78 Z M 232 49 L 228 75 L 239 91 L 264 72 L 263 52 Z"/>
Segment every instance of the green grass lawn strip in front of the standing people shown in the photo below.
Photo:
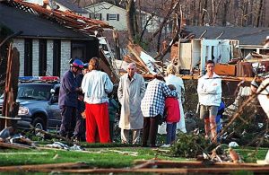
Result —
<path fill-rule="evenodd" d="M 65 151 L 52 149 L 31 150 L 0 150 L 0 166 L 26 165 L 59 162 L 85 162 L 92 168 L 124 168 L 133 166 L 134 160 L 161 160 L 187 161 L 186 158 L 172 157 L 169 153 L 156 151 L 152 148 L 135 147 L 111 147 L 115 144 L 82 144 L 85 151 Z M 118 144 L 116 144 L 117 146 Z M 161 150 L 165 150 L 162 149 Z M 169 149 L 166 149 L 169 150 Z M 256 159 L 265 159 L 267 149 L 255 148 L 235 149 L 243 157 L 245 162 L 256 162 Z M 189 160 L 189 159 L 188 159 Z"/>

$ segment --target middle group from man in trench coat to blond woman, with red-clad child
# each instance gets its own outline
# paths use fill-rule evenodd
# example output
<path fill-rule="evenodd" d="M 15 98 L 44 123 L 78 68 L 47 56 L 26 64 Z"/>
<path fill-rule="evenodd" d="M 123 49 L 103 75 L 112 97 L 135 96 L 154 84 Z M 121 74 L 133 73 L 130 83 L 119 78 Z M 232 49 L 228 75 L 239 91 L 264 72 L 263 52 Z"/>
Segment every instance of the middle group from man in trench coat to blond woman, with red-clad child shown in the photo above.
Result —
<path fill-rule="evenodd" d="M 169 74 L 175 74 L 176 67 L 172 65 L 169 67 L 173 69 Z M 120 78 L 117 89 L 117 97 L 121 104 L 119 127 L 122 144 L 137 144 L 140 131 L 143 129 L 142 145 L 155 147 L 158 125 L 164 118 L 168 123 L 166 144 L 175 141 L 180 111 L 184 113 L 182 104 L 179 104 L 181 99 L 178 100 L 184 91 L 184 85 L 182 79 L 175 75 L 169 75 L 167 78 L 169 84 L 165 83 L 161 75 L 155 74 L 145 87 L 143 76 L 136 73 L 135 64 L 130 63 L 127 66 L 127 74 Z M 172 86 L 171 89 L 169 85 Z M 184 114 L 182 115 L 184 118 Z M 186 132 L 185 122 L 181 126 Z"/>

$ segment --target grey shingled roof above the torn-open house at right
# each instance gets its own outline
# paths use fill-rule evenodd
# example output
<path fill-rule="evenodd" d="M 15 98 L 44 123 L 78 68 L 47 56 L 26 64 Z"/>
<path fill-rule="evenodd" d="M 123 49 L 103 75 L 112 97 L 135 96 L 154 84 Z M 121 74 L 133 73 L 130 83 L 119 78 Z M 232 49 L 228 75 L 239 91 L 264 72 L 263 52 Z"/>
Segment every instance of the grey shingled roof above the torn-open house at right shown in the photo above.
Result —
<path fill-rule="evenodd" d="M 269 28 L 252 27 L 217 27 L 217 26 L 185 26 L 185 31 L 195 34 L 199 38 L 204 31 L 204 39 L 238 39 L 240 45 L 261 45 L 266 36 L 269 36 Z"/>

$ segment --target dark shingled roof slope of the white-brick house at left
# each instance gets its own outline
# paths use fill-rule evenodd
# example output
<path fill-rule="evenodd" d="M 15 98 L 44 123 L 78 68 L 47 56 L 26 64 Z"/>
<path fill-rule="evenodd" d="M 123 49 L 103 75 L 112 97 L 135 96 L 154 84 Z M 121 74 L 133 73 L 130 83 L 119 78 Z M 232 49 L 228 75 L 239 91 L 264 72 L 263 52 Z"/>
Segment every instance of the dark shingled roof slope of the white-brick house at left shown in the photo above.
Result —
<path fill-rule="evenodd" d="M 0 26 L 13 32 L 23 31 L 21 37 L 53 39 L 93 39 L 81 32 L 67 29 L 56 22 L 24 12 L 15 7 L 0 3 Z"/>

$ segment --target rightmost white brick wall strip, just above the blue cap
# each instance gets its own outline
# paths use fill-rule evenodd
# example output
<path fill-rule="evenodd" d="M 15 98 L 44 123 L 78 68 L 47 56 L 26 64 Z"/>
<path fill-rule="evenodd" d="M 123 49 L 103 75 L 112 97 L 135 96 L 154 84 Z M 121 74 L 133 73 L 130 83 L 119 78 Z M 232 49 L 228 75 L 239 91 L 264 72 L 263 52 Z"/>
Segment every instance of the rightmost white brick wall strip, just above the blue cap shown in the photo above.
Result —
<path fill-rule="evenodd" d="M 61 76 L 69 69 L 71 58 L 71 41 L 61 40 Z"/>

